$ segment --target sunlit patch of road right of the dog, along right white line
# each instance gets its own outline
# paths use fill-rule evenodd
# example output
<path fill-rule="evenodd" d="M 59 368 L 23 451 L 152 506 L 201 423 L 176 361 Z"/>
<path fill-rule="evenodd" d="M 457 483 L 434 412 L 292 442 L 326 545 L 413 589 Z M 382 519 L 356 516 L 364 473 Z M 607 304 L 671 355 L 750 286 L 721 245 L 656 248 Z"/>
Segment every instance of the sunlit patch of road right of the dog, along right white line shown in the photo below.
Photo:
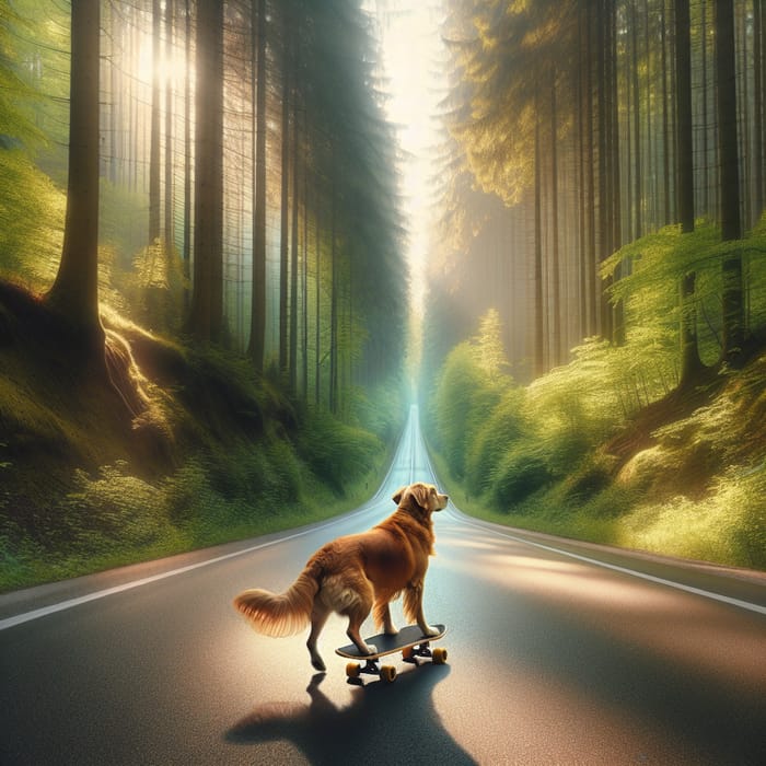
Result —
<path fill-rule="evenodd" d="M 703 596 L 539 548 L 533 552 L 520 541 L 473 526 L 468 530 L 454 518 L 440 532 L 439 576 L 453 582 L 472 581 L 472 608 L 485 601 L 481 582 L 492 593 L 504 593 L 506 618 L 496 623 L 504 623 L 502 629 L 510 636 L 507 643 L 512 654 L 521 654 L 522 664 L 531 659 L 524 654 L 525 647 L 533 658 L 555 655 L 556 664 L 565 665 L 560 669 L 564 683 L 570 663 L 601 662 L 602 658 L 588 654 L 578 660 L 582 647 L 595 642 L 612 654 L 619 648 L 626 677 L 636 668 L 658 664 L 680 677 L 688 673 L 720 684 L 721 694 L 735 696 L 741 706 L 759 704 L 766 689 L 764 632 L 752 627 L 741 610 L 723 607 L 731 614 L 721 624 L 716 619 L 721 604 Z M 433 569 L 437 571 L 436 562 Z M 536 624 L 543 622 L 547 627 L 541 634 Z M 716 630 L 710 629 L 711 624 L 717 625 Z M 574 640 L 554 649 L 557 630 Z M 491 638 L 476 630 L 473 635 L 491 647 Z M 615 668 L 605 672 L 614 675 Z M 593 684 L 579 683 L 578 687 L 592 688 Z"/>

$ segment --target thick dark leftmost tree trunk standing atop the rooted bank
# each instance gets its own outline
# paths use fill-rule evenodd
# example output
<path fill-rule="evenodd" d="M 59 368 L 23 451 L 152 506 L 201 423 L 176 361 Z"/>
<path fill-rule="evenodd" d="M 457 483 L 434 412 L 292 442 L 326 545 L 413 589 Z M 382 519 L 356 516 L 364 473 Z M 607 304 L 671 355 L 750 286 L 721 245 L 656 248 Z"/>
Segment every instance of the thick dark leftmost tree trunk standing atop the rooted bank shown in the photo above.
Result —
<path fill-rule="evenodd" d="M 69 181 L 61 262 L 46 303 L 103 349 L 98 316 L 98 69 L 100 0 L 72 3 Z"/>

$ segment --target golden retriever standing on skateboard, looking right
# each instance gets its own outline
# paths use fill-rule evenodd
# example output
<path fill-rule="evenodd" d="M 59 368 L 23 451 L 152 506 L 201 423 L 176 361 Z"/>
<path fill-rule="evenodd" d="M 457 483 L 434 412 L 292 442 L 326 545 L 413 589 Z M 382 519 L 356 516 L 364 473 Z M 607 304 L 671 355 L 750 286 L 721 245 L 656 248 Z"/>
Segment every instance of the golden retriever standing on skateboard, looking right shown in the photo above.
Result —
<path fill-rule="evenodd" d="M 318 671 L 325 663 L 316 640 L 332 612 L 348 617 L 348 637 L 362 654 L 373 654 L 375 647 L 364 643 L 359 629 L 374 607 L 375 625 L 386 634 L 398 632 L 388 603 L 404 592 L 407 619 L 425 636 L 436 636 L 423 617 L 422 588 L 428 557 L 433 555 L 431 514 L 446 508 L 448 499 L 430 484 L 402 487 L 393 497 L 397 508 L 385 521 L 320 548 L 285 593 L 243 591 L 234 607 L 267 636 L 294 635 L 311 620 L 306 647 Z"/>

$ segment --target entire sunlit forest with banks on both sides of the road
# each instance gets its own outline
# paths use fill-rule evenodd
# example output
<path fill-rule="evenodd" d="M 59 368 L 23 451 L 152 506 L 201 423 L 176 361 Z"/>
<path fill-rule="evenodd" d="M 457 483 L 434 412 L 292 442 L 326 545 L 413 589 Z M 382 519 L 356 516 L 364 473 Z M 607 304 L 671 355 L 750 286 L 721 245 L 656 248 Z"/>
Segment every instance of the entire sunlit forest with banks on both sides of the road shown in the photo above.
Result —
<path fill-rule="evenodd" d="M 414 224 L 415 4 L 0 0 L 0 589 L 352 508 L 413 390 L 463 510 L 766 568 L 763 1 L 425 5 Z"/>

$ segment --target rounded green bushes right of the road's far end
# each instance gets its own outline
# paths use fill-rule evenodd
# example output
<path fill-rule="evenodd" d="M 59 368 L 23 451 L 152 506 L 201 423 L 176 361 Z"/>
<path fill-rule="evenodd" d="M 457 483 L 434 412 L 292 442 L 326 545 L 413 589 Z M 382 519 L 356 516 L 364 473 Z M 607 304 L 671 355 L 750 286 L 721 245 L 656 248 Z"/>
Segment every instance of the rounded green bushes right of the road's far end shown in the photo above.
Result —
<path fill-rule="evenodd" d="M 431 417 L 453 475 L 507 509 L 568 476 L 614 432 L 636 385 L 635 352 L 615 356 L 608 344 L 592 340 L 569 365 L 522 388 L 500 365 L 488 367 L 481 337 L 448 356 Z"/>

